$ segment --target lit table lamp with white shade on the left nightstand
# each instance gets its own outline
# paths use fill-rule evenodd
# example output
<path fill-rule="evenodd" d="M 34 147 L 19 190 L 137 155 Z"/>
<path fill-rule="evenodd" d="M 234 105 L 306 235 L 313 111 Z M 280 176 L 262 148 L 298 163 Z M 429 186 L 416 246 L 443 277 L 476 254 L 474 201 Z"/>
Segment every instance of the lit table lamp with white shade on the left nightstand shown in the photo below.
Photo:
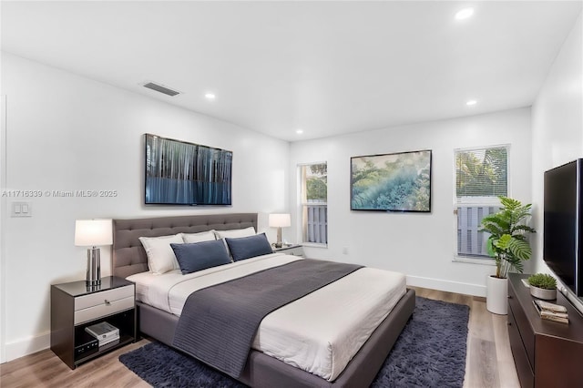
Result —
<path fill-rule="evenodd" d="M 87 286 L 101 284 L 98 246 L 113 244 L 111 220 L 76 220 L 75 245 L 87 248 Z"/>

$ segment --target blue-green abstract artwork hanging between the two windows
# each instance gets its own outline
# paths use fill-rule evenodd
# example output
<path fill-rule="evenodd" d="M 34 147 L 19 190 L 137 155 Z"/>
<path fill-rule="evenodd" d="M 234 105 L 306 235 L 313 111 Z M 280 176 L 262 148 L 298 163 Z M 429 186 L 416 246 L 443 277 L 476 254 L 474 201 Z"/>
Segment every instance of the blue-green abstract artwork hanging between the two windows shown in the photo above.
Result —
<path fill-rule="evenodd" d="M 351 210 L 431 212 L 432 151 L 351 158 Z"/>

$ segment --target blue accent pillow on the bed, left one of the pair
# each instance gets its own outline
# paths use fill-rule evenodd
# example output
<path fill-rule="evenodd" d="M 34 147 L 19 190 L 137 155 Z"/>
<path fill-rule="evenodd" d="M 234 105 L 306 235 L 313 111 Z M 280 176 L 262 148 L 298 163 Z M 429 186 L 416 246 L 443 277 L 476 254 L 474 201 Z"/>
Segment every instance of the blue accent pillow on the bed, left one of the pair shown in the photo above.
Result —
<path fill-rule="evenodd" d="M 170 247 L 183 275 L 230 263 L 229 253 L 221 240 L 170 244 Z"/>

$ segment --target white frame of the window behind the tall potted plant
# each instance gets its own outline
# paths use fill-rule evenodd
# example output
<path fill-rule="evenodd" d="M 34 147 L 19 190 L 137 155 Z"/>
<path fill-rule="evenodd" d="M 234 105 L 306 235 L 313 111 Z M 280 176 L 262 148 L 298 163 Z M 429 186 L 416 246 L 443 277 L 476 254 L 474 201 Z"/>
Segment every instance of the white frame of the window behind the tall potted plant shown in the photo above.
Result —
<path fill-rule="evenodd" d="M 511 197 L 511 180 L 512 180 L 512 168 L 510 163 L 510 144 L 494 144 L 482 147 L 472 147 L 472 148 L 455 148 L 453 153 L 453 261 L 456 262 L 467 262 L 472 264 L 481 264 L 487 266 L 495 266 L 496 262 L 494 258 L 490 256 L 465 256 L 460 255 L 457 250 L 458 246 L 458 236 L 457 236 L 457 209 L 460 207 L 500 207 L 500 200 L 497 197 L 462 197 L 460 200 L 457 199 L 457 154 L 459 152 L 471 152 L 488 148 L 506 148 L 506 197 Z"/>

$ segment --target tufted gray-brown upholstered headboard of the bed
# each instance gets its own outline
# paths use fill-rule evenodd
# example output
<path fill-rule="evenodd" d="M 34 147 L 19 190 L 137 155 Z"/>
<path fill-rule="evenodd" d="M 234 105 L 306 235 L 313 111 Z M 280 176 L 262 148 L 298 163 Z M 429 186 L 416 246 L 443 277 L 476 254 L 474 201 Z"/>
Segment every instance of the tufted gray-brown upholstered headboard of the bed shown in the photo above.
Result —
<path fill-rule="evenodd" d="M 133 220 L 113 220 L 113 255 L 111 271 L 126 278 L 147 272 L 148 257 L 139 237 L 167 236 L 176 233 L 197 233 L 205 230 L 257 230 L 257 213 L 227 213 L 197 216 L 160 217 Z"/>

